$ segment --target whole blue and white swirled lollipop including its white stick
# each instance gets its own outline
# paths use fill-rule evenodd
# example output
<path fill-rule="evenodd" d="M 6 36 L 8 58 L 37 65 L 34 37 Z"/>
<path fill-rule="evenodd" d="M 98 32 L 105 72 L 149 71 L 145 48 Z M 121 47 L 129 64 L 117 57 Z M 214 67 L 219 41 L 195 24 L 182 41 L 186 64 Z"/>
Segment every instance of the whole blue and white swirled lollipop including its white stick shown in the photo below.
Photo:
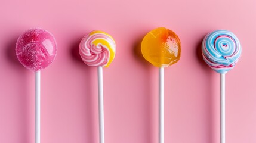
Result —
<path fill-rule="evenodd" d="M 202 42 L 203 60 L 220 73 L 220 142 L 225 142 L 225 74 L 233 69 L 241 56 L 238 38 L 227 30 L 215 30 Z"/>

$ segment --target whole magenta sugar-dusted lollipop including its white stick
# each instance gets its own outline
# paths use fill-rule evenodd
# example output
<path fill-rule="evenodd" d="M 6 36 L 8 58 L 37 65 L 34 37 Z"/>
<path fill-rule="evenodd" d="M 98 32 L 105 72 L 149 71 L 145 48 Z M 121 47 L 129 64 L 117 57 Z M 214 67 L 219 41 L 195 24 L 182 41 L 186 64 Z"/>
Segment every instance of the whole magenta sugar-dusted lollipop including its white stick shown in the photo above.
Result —
<path fill-rule="evenodd" d="M 44 29 L 30 29 L 17 40 L 16 55 L 24 67 L 35 72 L 35 143 L 40 143 L 40 72 L 57 54 L 57 44 Z"/>

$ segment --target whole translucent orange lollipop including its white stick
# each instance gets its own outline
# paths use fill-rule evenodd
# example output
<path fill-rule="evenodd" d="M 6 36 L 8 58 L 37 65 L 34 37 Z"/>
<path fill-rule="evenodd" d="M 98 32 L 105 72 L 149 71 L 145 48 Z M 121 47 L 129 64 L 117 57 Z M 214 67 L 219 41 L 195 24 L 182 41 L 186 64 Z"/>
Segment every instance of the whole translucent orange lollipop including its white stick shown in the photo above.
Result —
<path fill-rule="evenodd" d="M 180 60 L 180 39 L 169 29 L 157 28 L 144 36 L 141 52 L 147 61 L 159 67 L 159 143 L 164 143 L 164 67 Z"/>

